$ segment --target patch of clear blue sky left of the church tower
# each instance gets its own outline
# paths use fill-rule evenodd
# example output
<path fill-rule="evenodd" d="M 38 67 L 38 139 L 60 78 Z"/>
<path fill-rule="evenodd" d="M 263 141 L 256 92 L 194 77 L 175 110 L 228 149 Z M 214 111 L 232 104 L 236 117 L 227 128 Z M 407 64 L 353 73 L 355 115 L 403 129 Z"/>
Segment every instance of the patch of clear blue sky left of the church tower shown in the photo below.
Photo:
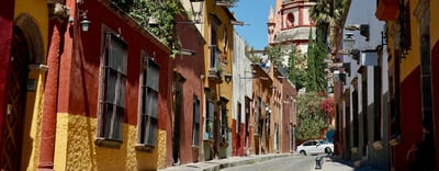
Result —
<path fill-rule="evenodd" d="M 275 0 L 239 0 L 230 11 L 235 12 L 237 21 L 246 25 L 235 25 L 235 31 L 255 49 L 263 49 L 268 44 L 267 20 L 270 7 Z"/>

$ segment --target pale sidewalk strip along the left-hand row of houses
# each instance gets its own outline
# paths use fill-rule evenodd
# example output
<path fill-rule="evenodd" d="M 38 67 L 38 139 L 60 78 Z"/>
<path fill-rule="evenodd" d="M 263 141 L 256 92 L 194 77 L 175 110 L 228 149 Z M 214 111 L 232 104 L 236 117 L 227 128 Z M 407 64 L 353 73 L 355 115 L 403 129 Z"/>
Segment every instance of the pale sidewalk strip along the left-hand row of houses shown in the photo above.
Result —
<path fill-rule="evenodd" d="M 202 161 L 195 163 L 188 163 L 183 166 L 170 167 L 160 171 L 217 171 L 219 169 L 251 164 L 256 162 L 267 161 L 275 158 L 283 158 L 293 156 L 292 153 L 269 153 L 269 155 L 254 155 L 246 157 L 230 157 L 227 159 L 215 159 L 210 161 Z"/>

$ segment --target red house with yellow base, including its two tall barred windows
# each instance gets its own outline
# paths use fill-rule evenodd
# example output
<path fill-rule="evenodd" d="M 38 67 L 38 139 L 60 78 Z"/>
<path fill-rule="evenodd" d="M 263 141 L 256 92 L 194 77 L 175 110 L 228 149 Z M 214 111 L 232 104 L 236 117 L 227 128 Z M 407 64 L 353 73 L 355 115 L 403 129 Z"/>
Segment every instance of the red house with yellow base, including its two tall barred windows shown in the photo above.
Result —
<path fill-rule="evenodd" d="M 60 32 L 56 117 L 47 118 L 55 119 L 47 121 L 56 128 L 48 135 L 56 139 L 55 149 L 46 151 L 54 152 L 54 169 L 171 166 L 166 160 L 170 49 L 109 1 L 66 5 L 72 22 Z M 85 16 L 92 23 L 88 31 L 81 29 Z"/>

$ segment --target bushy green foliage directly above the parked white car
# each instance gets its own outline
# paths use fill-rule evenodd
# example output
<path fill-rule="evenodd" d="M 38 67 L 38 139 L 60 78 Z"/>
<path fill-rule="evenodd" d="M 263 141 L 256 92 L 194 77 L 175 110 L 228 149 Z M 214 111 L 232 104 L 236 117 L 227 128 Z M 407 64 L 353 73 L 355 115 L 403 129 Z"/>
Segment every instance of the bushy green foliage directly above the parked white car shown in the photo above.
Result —
<path fill-rule="evenodd" d="M 331 117 L 323 110 L 325 96 L 306 92 L 297 96 L 297 140 L 316 139 L 330 125 Z"/>

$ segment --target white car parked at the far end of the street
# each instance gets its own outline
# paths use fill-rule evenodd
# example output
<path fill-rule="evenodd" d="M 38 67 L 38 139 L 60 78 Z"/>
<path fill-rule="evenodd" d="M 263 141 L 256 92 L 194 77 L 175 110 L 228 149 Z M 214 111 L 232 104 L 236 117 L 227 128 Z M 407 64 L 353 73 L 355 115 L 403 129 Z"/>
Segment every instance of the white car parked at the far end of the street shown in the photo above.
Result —
<path fill-rule="evenodd" d="M 297 151 L 303 155 L 333 153 L 334 144 L 326 140 L 307 140 L 297 146 Z"/>

